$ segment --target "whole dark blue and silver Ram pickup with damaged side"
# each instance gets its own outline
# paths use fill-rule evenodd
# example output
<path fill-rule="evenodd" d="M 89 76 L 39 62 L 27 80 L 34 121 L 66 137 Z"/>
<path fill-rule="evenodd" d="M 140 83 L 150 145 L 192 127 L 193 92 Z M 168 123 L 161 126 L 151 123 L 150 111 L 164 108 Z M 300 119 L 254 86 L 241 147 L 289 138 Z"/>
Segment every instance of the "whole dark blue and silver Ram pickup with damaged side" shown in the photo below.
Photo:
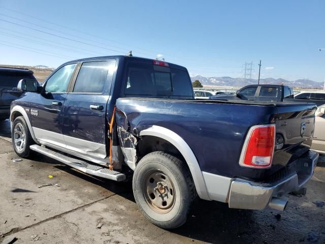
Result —
<path fill-rule="evenodd" d="M 176 228 L 194 199 L 283 210 L 305 193 L 315 104 L 194 100 L 184 67 L 133 56 L 74 60 L 37 87 L 21 80 L 12 142 L 85 173 L 132 177 L 139 208 Z"/>

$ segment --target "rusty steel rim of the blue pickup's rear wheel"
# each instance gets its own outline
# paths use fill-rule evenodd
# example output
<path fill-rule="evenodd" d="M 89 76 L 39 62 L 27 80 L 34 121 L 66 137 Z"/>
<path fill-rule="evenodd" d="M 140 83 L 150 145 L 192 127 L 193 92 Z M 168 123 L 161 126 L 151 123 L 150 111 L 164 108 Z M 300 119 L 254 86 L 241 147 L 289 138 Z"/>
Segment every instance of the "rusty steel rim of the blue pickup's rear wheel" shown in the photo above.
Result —
<path fill-rule="evenodd" d="M 175 188 L 171 179 L 159 170 L 151 170 L 143 182 L 148 205 L 159 214 L 169 212 L 175 203 Z"/>

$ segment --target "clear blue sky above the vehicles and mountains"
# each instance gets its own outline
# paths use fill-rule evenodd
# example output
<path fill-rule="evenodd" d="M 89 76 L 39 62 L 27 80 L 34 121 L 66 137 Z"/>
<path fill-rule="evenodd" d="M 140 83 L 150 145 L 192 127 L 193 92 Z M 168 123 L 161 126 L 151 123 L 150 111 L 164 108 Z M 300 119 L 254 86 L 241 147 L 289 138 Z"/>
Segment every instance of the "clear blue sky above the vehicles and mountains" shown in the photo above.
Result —
<path fill-rule="evenodd" d="M 0 65 L 165 58 L 191 76 L 325 77 L 325 1 L 0 0 Z"/>

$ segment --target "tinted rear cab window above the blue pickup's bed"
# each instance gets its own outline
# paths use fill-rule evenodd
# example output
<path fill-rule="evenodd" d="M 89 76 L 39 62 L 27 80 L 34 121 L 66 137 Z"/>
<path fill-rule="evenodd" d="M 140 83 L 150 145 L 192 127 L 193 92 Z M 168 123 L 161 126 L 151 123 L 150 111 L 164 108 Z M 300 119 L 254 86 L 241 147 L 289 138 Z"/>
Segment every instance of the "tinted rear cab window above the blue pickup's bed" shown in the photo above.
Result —
<path fill-rule="evenodd" d="M 191 80 L 185 70 L 130 62 L 126 67 L 124 95 L 192 99 L 193 90 Z"/>

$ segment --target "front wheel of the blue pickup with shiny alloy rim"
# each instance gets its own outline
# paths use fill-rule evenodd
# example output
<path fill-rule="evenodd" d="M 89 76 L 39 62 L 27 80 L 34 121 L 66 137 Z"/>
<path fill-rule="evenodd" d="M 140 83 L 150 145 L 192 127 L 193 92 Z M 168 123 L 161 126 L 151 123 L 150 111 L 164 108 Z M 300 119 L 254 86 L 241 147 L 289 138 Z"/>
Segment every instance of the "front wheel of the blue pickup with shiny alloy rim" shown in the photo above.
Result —
<path fill-rule="evenodd" d="M 21 133 L 21 136 L 19 137 L 19 134 L 15 131 L 15 129 L 16 128 L 18 129 L 20 127 L 23 128 L 23 129 L 22 128 L 20 129 L 21 132 L 23 132 L 23 133 Z M 19 144 L 18 144 L 19 142 L 16 142 L 16 144 L 15 144 L 15 141 L 17 139 L 19 140 L 19 138 L 22 138 L 23 142 L 24 142 L 24 146 L 23 146 L 23 148 L 21 148 L 21 150 L 19 149 Z M 17 118 L 15 118 L 13 126 L 12 126 L 11 139 L 12 139 L 12 145 L 14 147 L 16 154 L 21 158 L 27 158 L 30 154 L 29 146 L 34 144 L 33 143 L 34 140 L 32 139 L 32 137 L 30 135 L 28 126 L 27 126 L 26 121 L 23 116 L 18 116 Z"/>

